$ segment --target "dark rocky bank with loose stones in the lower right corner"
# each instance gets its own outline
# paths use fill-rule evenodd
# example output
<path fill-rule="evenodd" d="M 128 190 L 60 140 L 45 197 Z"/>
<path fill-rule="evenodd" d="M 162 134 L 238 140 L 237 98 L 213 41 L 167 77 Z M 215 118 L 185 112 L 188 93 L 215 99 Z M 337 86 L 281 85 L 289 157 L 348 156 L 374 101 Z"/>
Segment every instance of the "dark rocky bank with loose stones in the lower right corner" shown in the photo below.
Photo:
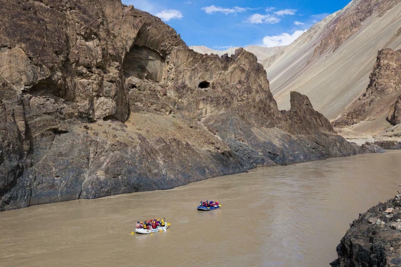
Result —
<path fill-rule="evenodd" d="M 334 267 L 401 266 L 401 194 L 359 214 L 337 246 Z"/>

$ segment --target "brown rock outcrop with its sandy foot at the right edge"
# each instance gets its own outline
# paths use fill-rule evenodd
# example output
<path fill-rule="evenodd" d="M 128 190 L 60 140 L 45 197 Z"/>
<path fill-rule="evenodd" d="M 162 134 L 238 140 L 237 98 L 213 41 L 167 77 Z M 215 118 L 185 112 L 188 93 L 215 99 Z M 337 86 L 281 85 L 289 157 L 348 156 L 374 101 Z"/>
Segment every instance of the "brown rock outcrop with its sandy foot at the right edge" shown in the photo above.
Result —
<path fill-rule="evenodd" d="M 370 83 L 333 126 L 343 136 L 365 132 L 378 139 L 399 140 L 401 133 L 401 50 L 383 49 L 370 74 Z"/>

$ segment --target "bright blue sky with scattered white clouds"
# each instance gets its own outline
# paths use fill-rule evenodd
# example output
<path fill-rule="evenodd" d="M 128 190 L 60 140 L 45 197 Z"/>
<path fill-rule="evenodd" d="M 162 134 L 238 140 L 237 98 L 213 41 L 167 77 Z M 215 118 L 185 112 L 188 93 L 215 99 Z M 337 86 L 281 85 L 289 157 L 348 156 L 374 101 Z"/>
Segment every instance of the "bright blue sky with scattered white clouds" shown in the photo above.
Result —
<path fill-rule="evenodd" d="M 122 0 L 172 26 L 190 45 L 224 50 L 292 42 L 350 0 Z"/>

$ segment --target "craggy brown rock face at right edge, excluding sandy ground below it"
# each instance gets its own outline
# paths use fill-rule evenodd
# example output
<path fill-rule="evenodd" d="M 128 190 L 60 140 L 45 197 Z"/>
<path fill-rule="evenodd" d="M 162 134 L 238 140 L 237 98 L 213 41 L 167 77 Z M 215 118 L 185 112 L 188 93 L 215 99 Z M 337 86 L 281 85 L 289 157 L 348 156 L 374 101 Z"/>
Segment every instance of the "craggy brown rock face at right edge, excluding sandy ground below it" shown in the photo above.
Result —
<path fill-rule="evenodd" d="M 363 121 L 387 117 L 396 125 L 401 122 L 401 50 L 383 49 L 369 76 L 370 83 L 360 97 L 352 102 L 333 122 L 336 127 L 347 127 Z"/>

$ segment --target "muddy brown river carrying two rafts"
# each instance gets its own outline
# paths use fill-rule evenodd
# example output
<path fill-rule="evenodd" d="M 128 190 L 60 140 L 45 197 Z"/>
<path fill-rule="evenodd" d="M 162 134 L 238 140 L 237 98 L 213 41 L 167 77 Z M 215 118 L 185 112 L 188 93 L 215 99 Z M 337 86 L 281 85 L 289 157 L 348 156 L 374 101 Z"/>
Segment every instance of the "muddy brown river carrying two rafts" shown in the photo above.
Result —
<path fill-rule="evenodd" d="M 400 170 L 388 151 L 0 212 L 0 265 L 329 266 L 349 223 L 400 189 Z M 206 198 L 222 208 L 197 211 Z M 130 235 L 154 217 L 171 227 Z"/>

